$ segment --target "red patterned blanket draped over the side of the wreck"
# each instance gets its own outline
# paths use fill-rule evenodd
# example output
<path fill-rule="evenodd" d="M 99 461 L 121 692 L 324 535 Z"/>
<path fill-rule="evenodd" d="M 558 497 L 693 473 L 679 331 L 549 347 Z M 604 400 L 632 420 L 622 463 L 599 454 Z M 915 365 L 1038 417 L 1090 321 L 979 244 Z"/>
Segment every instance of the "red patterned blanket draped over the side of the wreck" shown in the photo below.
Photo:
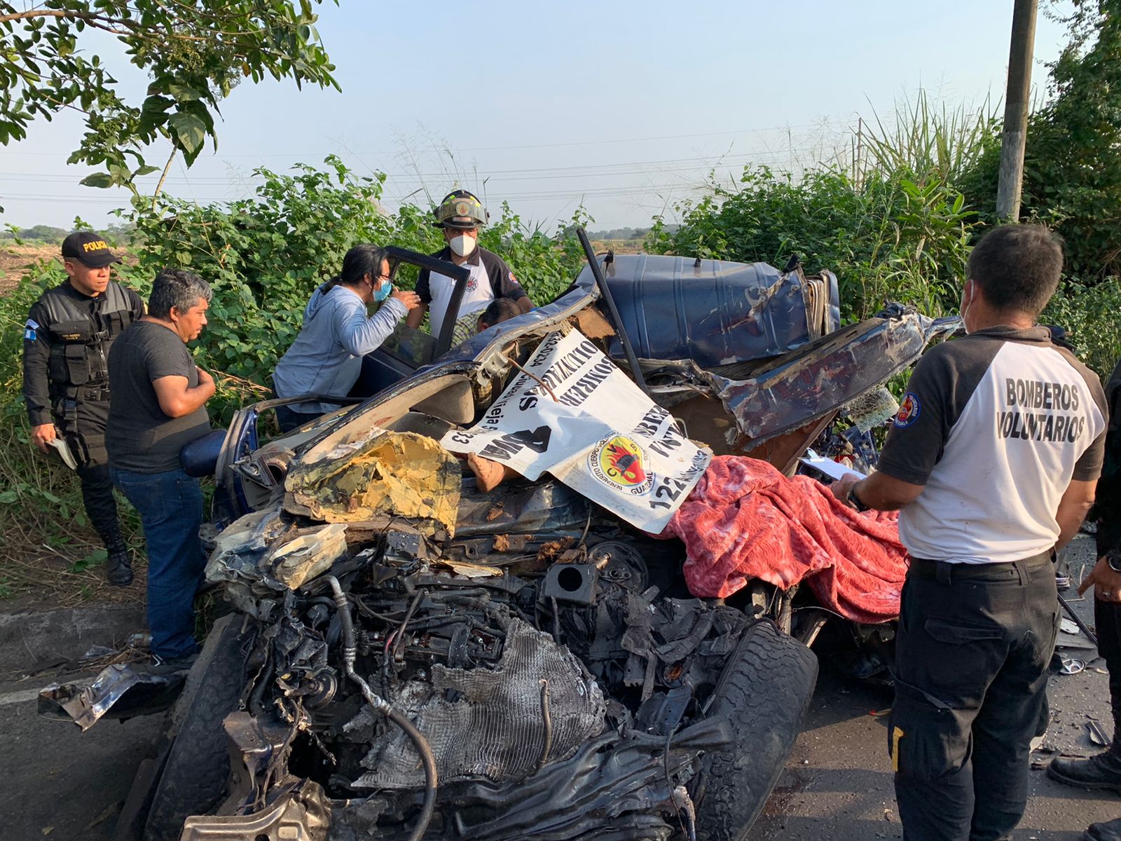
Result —
<path fill-rule="evenodd" d="M 818 601 L 858 622 L 899 616 L 907 551 L 896 514 L 858 514 L 809 477 L 719 455 L 661 533 L 685 542 L 694 595 L 726 597 L 762 579 L 805 580 Z"/>

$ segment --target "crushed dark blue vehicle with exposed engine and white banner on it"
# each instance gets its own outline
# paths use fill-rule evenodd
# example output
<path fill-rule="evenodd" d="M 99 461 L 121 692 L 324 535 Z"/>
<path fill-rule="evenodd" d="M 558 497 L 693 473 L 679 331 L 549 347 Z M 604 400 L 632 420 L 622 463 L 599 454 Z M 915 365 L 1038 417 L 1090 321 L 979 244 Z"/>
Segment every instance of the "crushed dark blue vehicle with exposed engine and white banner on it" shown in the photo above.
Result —
<path fill-rule="evenodd" d="M 835 277 L 794 264 L 585 248 L 566 293 L 457 348 L 399 334 L 358 405 L 267 443 L 278 401 L 235 415 L 206 571 L 233 612 L 122 837 L 745 837 L 824 620 L 762 581 L 696 598 L 658 533 L 714 454 L 793 473 L 943 326 L 842 327 Z M 64 695 L 83 727 L 119 712 Z"/>

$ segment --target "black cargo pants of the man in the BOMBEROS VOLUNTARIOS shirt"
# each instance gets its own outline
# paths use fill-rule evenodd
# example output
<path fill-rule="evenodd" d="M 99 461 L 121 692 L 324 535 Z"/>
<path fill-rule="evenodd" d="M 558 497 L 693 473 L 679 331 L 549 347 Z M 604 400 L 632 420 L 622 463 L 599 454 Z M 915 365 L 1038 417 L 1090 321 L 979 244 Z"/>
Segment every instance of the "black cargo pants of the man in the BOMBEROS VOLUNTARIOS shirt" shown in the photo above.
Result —
<path fill-rule="evenodd" d="M 888 729 L 906 841 L 995 841 L 1019 823 L 1058 621 L 1049 552 L 911 562 Z"/>

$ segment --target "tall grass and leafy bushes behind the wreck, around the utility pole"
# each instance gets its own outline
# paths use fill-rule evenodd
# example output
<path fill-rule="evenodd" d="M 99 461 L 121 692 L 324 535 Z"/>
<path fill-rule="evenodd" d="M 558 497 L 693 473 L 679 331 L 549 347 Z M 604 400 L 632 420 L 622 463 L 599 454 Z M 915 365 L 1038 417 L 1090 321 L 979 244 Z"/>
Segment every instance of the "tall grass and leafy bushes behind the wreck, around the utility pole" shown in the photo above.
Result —
<path fill-rule="evenodd" d="M 647 249 L 777 265 L 798 253 L 809 270 L 836 272 L 846 318 L 889 298 L 930 315 L 955 312 L 970 248 L 986 230 L 976 211 L 995 190 L 976 170 L 1000 147 L 997 105 L 947 107 L 919 92 L 886 119 L 873 114 L 852 160 L 834 156 L 797 177 L 748 166 L 736 184 L 712 181 L 675 206 L 677 230 L 655 220 Z M 1103 207 L 1102 224 L 1115 212 Z M 1043 316 L 1069 330 L 1102 377 L 1121 355 L 1119 284 L 1065 278 Z"/>

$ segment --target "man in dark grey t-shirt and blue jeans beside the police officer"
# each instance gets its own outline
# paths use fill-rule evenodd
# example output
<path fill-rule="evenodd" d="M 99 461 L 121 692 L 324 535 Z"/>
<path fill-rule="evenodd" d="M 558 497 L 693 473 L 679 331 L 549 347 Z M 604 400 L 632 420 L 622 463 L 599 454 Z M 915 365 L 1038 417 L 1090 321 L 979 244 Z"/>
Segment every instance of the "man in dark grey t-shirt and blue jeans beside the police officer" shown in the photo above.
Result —
<path fill-rule="evenodd" d="M 148 314 L 109 352 L 109 470 L 143 524 L 151 653 L 168 671 L 187 667 L 197 650 L 203 497 L 198 480 L 179 465 L 179 451 L 210 431 L 205 405 L 214 380 L 186 349 L 206 324 L 210 299 L 211 288 L 198 276 L 163 271 L 152 284 Z"/>

